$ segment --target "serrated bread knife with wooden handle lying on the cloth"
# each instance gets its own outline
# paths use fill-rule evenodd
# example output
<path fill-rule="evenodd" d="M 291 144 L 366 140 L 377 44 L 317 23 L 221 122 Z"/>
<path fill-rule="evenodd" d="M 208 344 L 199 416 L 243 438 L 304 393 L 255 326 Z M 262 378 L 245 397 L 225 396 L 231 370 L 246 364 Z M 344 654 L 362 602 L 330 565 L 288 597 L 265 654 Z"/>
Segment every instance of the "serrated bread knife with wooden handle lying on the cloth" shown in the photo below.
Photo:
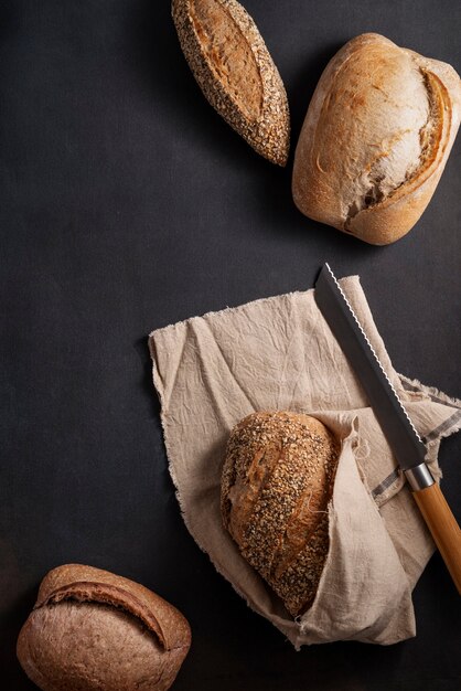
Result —
<path fill-rule="evenodd" d="M 328 264 L 320 272 L 314 295 L 320 311 L 362 384 L 433 541 L 461 594 L 460 527 L 425 463 L 426 446 L 421 437 Z"/>

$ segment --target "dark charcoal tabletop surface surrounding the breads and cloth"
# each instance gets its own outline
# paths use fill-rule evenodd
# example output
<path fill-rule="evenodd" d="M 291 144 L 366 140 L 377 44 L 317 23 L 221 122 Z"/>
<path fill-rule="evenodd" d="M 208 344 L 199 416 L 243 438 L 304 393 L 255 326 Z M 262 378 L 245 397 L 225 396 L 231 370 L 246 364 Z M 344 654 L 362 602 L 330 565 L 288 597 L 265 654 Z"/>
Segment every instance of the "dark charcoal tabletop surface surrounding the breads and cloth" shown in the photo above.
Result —
<path fill-rule="evenodd" d="M 461 70 L 461 3 L 246 0 L 285 81 L 292 150 L 328 60 L 376 31 Z M 178 691 L 451 691 L 460 598 L 439 555 L 417 638 L 294 650 L 214 571 L 180 518 L 150 380 L 150 330 L 360 274 L 396 369 L 461 395 L 461 140 L 417 226 L 372 247 L 311 222 L 283 170 L 208 106 L 165 0 L 0 4 L 0 677 L 51 567 L 132 577 L 178 607 Z M 461 435 L 443 442 L 461 519 Z M 7 688 L 3 687 L 3 688 Z"/>

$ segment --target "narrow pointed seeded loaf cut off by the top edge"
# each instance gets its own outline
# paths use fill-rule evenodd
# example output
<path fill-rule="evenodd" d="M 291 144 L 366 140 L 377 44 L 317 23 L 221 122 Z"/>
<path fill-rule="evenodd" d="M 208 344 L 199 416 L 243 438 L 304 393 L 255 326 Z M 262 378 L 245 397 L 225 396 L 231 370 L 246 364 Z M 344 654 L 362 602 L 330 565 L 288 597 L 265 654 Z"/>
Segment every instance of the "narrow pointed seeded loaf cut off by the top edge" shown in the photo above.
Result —
<path fill-rule="evenodd" d="M 290 146 L 287 94 L 269 51 L 236 0 L 173 0 L 181 47 L 219 115 L 261 156 L 285 166 Z"/>

